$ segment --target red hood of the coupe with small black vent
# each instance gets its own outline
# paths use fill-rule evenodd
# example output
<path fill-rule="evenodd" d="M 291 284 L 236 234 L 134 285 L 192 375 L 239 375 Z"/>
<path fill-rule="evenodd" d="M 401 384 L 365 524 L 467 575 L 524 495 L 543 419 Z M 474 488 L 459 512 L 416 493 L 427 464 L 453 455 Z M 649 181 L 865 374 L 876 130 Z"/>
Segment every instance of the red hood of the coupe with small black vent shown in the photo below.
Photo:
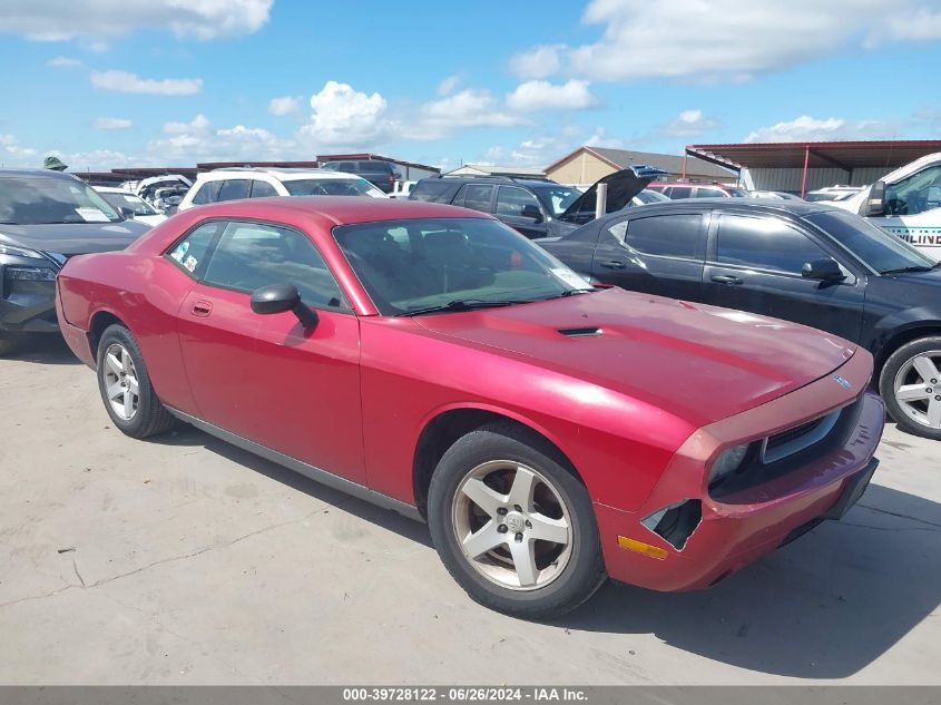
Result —
<path fill-rule="evenodd" d="M 793 392 L 856 347 L 794 323 L 620 288 L 414 321 L 592 385 L 572 403 L 604 399 L 602 388 L 696 427 Z"/>

